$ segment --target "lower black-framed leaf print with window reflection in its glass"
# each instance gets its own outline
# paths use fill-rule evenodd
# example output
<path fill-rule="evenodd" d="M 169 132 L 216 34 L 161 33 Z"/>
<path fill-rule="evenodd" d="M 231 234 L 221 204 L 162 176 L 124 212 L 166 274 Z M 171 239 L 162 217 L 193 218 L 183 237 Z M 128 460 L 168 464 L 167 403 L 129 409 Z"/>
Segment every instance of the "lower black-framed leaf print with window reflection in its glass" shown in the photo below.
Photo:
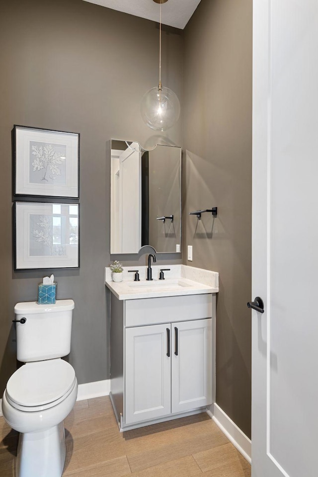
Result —
<path fill-rule="evenodd" d="M 14 203 L 15 270 L 79 268 L 79 204 Z"/>

